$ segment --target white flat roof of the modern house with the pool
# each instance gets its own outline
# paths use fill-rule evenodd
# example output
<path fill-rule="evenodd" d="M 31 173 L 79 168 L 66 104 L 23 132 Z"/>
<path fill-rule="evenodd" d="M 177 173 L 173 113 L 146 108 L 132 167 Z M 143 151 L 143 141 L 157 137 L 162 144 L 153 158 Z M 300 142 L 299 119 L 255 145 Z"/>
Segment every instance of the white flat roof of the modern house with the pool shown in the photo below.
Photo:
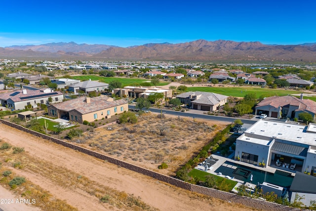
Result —
<path fill-rule="evenodd" d="M 244 131 L 244 134 L 251 137 L 255 134 L 259 139 L 279 139 L 316 146 L 316 135 L 314 132 L 307 131 L 307 128 L 302 125 L 261 119 Z"/>

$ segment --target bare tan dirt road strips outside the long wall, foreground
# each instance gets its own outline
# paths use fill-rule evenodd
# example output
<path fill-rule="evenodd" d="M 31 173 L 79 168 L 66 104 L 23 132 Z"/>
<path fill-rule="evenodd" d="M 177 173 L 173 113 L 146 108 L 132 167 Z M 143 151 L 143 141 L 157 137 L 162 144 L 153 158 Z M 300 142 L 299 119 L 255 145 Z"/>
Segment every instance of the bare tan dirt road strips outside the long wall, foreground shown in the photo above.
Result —
<path fill-rule="evenodd" d="M 229 204 L 161 183 L 137 172 L 119 168 L 2 124 L 0 125 L 0 139 L 13 146 L 24 147 L 26 153 L 34 158 L 49 162 L 55 167 L 69 169 L 92 181 L 118 191 L 134 194 L 146 204 L 159 210 L 253 210 L 242 205 Z M 60 186 L 50 178 L 41 176 L 40 172 L 28 171 L 27 169 L 13 170 L 79 210 L 118 210 L 106 203 L 101 204 L 95 196 L 87 192 L 70 190 Z"/>

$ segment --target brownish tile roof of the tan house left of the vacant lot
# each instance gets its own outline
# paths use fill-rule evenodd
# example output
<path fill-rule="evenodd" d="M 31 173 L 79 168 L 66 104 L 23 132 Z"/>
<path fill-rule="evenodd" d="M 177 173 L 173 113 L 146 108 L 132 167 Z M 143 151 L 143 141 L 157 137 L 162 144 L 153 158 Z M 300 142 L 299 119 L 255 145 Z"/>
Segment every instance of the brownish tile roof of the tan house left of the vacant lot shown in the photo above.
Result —
<path fill-rule="evenodd" d="M 72 111 L 76 110 L 80 114 L 88 114 L 91 112 L 100 111 L 107 108 L 112 108 L 115 106 L 123 105 L 128 103 L 124 99 L 114 100 L 114 101 L 107 101 L 110 97 L 91 97 L 90 103 L 85 102 L 85 97 L 79 97 L 72 100 L 67 100 L 61 103 L 56 103 L 53 106 L 58 110 L 63 111 Z"/>

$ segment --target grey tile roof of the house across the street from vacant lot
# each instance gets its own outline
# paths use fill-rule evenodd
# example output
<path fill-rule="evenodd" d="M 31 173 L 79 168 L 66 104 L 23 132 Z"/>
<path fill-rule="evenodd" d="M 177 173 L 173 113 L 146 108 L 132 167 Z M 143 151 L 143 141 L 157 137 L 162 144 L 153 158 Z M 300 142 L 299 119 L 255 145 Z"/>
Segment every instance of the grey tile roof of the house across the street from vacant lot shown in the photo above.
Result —
<path fill-rule="evenodd" d="M 178 94 L 179 98 L 189 98 L 191 95 L 200 95 L 198 99 L 191 101 L 192 103 L 205 104 L 205 105 L 216 105 L 221 100 L 228 98 L 226 95 L 216 94 L 212 92 L 203 91 L 188 91 L 182 94 Z"/>

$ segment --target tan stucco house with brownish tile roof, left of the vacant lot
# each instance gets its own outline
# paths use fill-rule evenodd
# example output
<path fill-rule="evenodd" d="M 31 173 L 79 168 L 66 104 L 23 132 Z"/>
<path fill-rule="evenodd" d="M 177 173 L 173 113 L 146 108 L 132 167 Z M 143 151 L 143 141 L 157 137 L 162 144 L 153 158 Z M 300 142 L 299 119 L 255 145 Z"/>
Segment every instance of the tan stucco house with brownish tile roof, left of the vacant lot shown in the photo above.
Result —
<path fill-rule="evenodd" d="M 124 99 L 114 100 L 112 97 L 79 97 L 47 107 L 48 115 L 75 121 L 93 122 L 102 118 L 128 111 L 128 102 Z"/>

